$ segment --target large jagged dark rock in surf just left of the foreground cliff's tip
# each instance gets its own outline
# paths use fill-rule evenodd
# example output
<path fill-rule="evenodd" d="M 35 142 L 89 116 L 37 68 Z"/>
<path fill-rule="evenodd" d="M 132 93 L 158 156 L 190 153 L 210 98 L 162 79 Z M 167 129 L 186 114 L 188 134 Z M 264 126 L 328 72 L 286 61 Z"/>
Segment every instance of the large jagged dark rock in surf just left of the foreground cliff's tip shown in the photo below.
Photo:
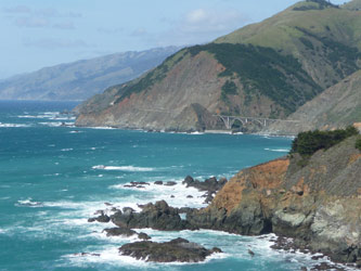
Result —
<path fill-rule="evenodd" d="M 146 204 L 141 212 L 131 210 L 111 216 L 113 223 L 120 228 L 152 228 L 162 231 L 194 230 L 196 227 L 181 219 L 177 208 L 169 207 L 165 201 Z"/>

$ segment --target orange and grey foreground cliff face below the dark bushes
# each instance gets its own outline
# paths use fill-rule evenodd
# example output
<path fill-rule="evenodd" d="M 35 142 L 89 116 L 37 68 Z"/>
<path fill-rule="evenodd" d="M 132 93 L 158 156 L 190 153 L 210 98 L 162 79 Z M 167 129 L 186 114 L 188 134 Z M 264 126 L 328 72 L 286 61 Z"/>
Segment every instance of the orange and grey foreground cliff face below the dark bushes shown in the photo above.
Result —
<path fill-rule="evenodd" d="M 274 232 L 334 260 L 360 261 L 361 153 L 354 142 L 321 150 L 305 167 L 294 155 L 242 170 L 189 221 L 240 234 Z"/>

